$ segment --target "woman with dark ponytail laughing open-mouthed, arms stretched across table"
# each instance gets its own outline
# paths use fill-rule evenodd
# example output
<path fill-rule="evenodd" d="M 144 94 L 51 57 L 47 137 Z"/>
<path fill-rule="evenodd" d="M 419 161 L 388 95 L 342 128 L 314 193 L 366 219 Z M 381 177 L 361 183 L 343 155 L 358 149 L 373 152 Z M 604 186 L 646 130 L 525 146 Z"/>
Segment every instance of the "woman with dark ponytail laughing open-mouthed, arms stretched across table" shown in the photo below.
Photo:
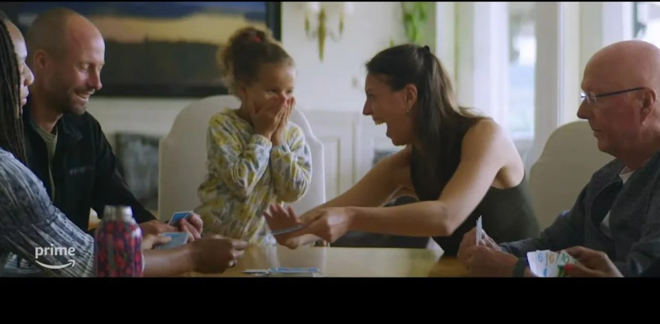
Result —
<path fill-rule="evenodd" d="M 428 236 L 445 255 L 456 255 L 480 217 L 496 242 L 539 234 L 514 143 L 492 119 L 459 106 L 448 73 L 428 47 L 385 49 L 366 69 L 362 113 L 386 124 L 392 142 L 406 147 L 300 218 L 274 207 L 266 214 L 271 229 L 305 225 L 277 235 L 280 244 L 294 248 L 306 234 L 334 242 L 347 231 L 367 231 Z M 404 195 L 419 202 L 382 207 Z"/>

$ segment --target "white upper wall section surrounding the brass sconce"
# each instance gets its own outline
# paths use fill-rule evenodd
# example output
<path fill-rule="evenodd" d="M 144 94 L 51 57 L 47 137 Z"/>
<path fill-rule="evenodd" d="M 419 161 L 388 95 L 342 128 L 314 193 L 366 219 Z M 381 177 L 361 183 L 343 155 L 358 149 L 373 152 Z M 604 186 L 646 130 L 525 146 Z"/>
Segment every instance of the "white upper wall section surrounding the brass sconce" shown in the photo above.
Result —
<path fill-rule="evenodd" d="M 339 3 L 324 3 L 335 8 Z M 378 51 L 406 40 L 399 2 L 355 3 L 353 16 L 344 21 L 339 43 L 330 38 L 325 62 L 318 58 L 318 40 L 305 35 L 303 3 L 282 3 L 282 40 L 298 66 L 296 100 L 309 109 L 362 111 L 364 63 Z M 314 27 L 315 20 L 311 20 Z M 329 30 L 338 30 L 338 16 L 329 12 Z M 353 78 L 358 86 L 353 87 Z"/>

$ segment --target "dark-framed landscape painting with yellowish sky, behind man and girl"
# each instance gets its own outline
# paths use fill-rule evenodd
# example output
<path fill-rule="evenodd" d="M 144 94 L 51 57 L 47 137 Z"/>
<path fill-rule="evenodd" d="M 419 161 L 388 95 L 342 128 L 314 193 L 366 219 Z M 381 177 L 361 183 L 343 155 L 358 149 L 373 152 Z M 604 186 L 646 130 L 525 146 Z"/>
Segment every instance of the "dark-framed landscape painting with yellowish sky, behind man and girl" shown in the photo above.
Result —
<path fill-rule="evenodd" d="M 207 97 L 228 93 L 217 51 L 239 28 L 268 29 L 281 40 L 279 2 L 3 2 L 25 35 L 38 14 L 72 9 L 105 39 L 106 97 Z"/>

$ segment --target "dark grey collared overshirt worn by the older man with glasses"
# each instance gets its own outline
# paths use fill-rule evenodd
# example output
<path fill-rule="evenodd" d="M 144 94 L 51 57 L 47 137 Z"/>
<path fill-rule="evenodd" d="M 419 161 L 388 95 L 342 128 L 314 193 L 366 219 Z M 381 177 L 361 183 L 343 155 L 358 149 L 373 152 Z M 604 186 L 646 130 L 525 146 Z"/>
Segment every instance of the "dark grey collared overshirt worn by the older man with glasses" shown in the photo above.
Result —
<path fill-rule="evenodd" d="M 500 247 L 525 257 L 529 251 L 584 246 L 607 253 L 625 277 L 641 275 L 660 259 L 660 152 L 635 170 L 625 185 L 619 178 L 623 169 L 624 163 L 615 159 L 595 172 L 573 208 L 561 213 L 539 238 Z M 617 183 L 620 191 L 611 194 Z M 602 218 L 598 219 L 606 213 L 609 236 L 600 228 Z"/>

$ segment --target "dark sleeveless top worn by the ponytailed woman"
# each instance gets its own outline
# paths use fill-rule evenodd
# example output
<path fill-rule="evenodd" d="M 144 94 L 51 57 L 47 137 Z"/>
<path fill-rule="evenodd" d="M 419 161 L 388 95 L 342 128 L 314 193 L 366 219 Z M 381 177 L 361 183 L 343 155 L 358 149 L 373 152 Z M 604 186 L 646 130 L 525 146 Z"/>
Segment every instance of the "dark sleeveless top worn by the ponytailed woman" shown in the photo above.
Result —
<path fill-rule="evenodd" d="M 461 142 L 462 137 L 456 141 L 457 145 L 454 148 L 450 148 L 454 152 L 445 154 L 445 157 L 460 157 Z M 419 161 L 420 157 L 416 155 L 415 150 L 412 150 L 410 178 L 417 199 L 420 201 L 437 200 L 446 181 L 442 181 L 439 177 L 418 174 L 421 168 Z M 454 174 L 458 162 L 459 159 L 456 159 L 456 163 L 450 163 L 452 167 L 451 170 L 448 170 L 451 171 L 448 175 Z M 440 167 L 439 163 L 437 164 Z M 445 172 L 445 174 L 447 173 Z M 445 176 L 445 178 L 447 177 Z M 422 185 L 422 181 L 438 181 L 445 182 L 445 184 L 429 186 Z M 525 174 L 520 184 L 515 187 L 508 189 L 490 187 L 481 203 L 477 205 L 476 209 L 467 217 L 467 220 L 452 235 L 434 237 L 433 240 L 443 249 L 444 255 L 455 256 L 458 253 L 463 235 L 476 226 L 476 220 L 479 216 L 483 216 L 481 219 L 483 230 L 498 244 L 525 238 L 537 238 L 540 233 L 540 225 L 531 205 L 531 196 L 527 187 L 527 174 Z"/>

